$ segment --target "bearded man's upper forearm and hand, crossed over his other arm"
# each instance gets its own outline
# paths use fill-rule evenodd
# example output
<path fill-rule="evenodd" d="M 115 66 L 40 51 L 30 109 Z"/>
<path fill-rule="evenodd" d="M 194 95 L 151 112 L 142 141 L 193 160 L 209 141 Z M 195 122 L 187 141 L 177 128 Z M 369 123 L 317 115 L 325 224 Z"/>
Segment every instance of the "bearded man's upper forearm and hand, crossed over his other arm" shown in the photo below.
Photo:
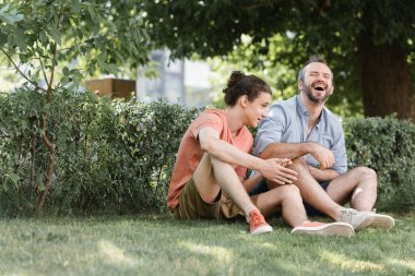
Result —
<path fill-rule="evenodd" d="M 307 154 L 312 155 L 320 163 L 321 169 L 331 168 L 335 163 L 333 153 L 316 142 L 271 143 L 260 154 L 260 157 L 263 159 L 275 157 L 295 159 Z"/>

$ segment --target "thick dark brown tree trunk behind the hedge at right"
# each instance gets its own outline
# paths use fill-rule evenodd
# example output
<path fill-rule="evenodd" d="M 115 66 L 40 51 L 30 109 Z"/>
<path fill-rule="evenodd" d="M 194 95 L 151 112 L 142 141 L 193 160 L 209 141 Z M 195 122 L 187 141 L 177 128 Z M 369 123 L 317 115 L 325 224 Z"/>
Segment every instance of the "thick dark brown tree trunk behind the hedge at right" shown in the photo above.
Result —
<path fill-rule="evenodd" d="M 363 101 L 366 117 L 396 113 L 415 121 L 415 100 L 406 53 L 399 44 L 375 46 L 359 39 Z"/>

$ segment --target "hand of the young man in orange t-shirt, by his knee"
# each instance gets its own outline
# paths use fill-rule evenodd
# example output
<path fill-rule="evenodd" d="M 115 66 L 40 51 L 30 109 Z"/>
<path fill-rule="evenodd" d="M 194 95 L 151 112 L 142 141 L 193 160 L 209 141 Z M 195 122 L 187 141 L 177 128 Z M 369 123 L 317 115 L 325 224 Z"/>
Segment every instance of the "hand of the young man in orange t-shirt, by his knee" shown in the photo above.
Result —
<path fill-rule="evenodd" d="M 288 166 L 292 164 L 290 159 L 281 159 L 281 158 L 271 158 L 265 159 L 261 164 L 261 168 L 259 169 L 259 172 L 261 175 L 278 184 L 290 184 L 293 181 L 297 180 L 297 172 L 286 168 L 285 166 Z"/>

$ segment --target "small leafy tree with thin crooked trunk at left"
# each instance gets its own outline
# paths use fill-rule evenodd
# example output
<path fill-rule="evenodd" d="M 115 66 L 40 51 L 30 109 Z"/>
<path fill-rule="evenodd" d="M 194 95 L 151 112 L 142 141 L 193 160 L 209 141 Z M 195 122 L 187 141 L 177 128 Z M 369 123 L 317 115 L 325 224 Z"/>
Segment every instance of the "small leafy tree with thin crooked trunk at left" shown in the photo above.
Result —
<path fill-rule="evenodd" d="M 131 1 L 8 0 L 0 2 L 0 53 L 26 80 L 23 87 L 46 98 L 40 135 L 48 148 L 42 209 L 54 172 L 55 144 L 48 135 L 54 94 L 76 89 L 97 70 L 146 62 L 151 43 L 141 10 Z"/>

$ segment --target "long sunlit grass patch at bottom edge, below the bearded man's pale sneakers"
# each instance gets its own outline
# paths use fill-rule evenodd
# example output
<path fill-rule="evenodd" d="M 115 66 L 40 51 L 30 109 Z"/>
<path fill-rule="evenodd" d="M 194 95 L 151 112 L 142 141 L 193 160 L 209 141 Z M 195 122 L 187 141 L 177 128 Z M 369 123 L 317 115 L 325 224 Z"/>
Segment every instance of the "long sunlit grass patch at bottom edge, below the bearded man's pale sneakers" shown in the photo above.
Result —
<path fill-rule="evenodd" d="M 364 262 L 353 260 L 343 254 L 323 251 L 321 259 L 324 262 L 331 263 L 334 266 L 349 269 L 352 272 L 383 272 L 384 266 L 372 262 Z"/>

